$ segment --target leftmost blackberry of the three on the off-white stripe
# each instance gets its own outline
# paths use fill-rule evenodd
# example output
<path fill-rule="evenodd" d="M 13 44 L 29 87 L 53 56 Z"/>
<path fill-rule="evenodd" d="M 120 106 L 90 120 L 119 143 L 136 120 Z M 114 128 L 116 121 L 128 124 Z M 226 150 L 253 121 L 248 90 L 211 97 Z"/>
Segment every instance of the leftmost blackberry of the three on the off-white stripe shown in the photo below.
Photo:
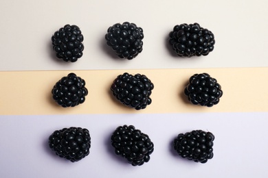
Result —
<path fill-rule="evenodd" d="M 76 62 L 81 58 L 84 50 L 84 37 L 76 25 L 65 25 L 52 36 L 53 50 L 56 57 L 65 62 Z"/>

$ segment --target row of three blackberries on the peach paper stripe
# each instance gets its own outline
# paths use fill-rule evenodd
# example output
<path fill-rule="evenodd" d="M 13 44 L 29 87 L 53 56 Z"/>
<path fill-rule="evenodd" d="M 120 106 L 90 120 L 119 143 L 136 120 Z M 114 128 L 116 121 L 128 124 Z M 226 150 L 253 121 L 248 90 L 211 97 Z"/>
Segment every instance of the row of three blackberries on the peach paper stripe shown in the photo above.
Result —
<path fill-rule="evenodd" d="M 63 107 L 74 107 L 84 103 L 88 94 L 85 84 L 84 79 L 74 73 L 69 73 L 67 77 L 62 77 L 54 85 L 52 89 L 53 99 Z M 129 73 L 118 75 L 111 85 L 113 96 L 122 104 L 136 110 L 144 109 L 152 103 L 150 94 L 152 94 L 153 88 L 154 84 L 146 75 L 131 75 Z M 219 103 L 223 95 L 221 85 L 208 73 L 192 75 L 184 93 L 190 103 L 208 107 Z"/>

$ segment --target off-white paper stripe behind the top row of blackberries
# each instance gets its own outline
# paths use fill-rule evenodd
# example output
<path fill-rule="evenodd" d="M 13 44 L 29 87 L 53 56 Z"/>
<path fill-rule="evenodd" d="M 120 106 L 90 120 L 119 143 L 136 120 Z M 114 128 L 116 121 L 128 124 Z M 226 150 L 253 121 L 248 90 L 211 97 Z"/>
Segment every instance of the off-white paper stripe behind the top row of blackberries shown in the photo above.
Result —
<path fill-rule="evenodd" d="M 267 1 L 9 1 L 0 2 L 0 71 L 148 68 L 267 67 Z M 120 60 L 107 47 L 108 27 L 129 21 L 144 29 L 135 60 Z M 168 34 L 175 25 L 199 23 L 214 33 L 214 51 L 178 58 Z M 56 60 L 51 37 L 65 24 L 78 25 L 84 55 L 78 62 Z"/>

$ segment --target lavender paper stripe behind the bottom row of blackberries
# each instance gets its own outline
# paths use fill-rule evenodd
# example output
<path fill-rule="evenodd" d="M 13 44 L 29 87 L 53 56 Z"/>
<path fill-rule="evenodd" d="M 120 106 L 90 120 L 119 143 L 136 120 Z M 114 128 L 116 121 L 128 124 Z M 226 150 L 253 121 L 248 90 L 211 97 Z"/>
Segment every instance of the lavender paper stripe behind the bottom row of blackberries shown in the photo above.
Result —
<path fill-rule="evenodd" d="M 86 114 L 2 116 L 1 177 L 267 177 L 266 113 Z M 131 166 L 113 153 L 110 137 L 119 125 L 135 125 L 155 144 L 150 161 Z M 80 162 L 58 157 L 47 144 L 56 129 L 78 126 L 91 134 Z M 203 129 L 215 135 L 207 163 L 183 160 L 172 149 L 177 134 Z M 8 134 L 7 134 L 8 133 Z M 5 143 L 5 144 L 3 144 Z"/>

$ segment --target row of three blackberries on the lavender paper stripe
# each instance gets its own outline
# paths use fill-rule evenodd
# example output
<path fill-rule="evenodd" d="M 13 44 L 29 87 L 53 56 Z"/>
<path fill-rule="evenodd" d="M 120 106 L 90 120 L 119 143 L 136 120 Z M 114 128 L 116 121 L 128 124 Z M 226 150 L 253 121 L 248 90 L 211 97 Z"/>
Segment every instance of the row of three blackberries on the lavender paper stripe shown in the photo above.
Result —
<path fill-rule="evenodd" d="M 205 163 L 213 157 L 214 135 L 211 132 L 193 130 L 179 133 L 173 141 L 173 148 L 183 158 Z M 123 125 L 111 135 L 115 154 L 126 158 L 129 164 L 141 166 L 150 160 L 154 144 L 146 133 L 133 125 Z M 89 155 L 91 137 L 88 129 L 70 127 L 56 130 L 49 136 L 49 147 L 59 157 L 78 162 Z"/>

